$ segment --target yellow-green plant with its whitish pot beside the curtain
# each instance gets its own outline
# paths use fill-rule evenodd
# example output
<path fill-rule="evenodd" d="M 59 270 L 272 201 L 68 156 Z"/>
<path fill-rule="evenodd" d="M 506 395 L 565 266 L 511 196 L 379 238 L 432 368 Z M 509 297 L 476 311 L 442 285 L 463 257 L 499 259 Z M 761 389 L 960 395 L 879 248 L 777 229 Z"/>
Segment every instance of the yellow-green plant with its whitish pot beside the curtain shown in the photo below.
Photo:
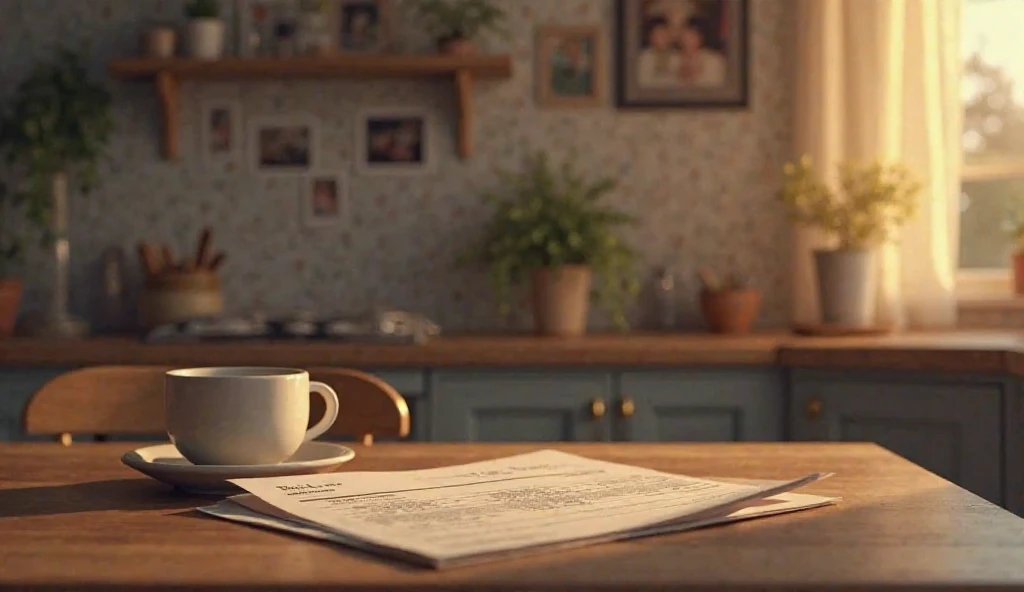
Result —
<path fill-rule="evenodd" d="M 916 211 L 922 185 L 900 163 L 837 167 L 838 189 L 819 180 L 809 157 L 784 168 L 780 198 L 797 223 L 817 226 L 834 246 L 814 252 L 821 322 L 854 328 L 874 321 L 877 247 Z"/>

